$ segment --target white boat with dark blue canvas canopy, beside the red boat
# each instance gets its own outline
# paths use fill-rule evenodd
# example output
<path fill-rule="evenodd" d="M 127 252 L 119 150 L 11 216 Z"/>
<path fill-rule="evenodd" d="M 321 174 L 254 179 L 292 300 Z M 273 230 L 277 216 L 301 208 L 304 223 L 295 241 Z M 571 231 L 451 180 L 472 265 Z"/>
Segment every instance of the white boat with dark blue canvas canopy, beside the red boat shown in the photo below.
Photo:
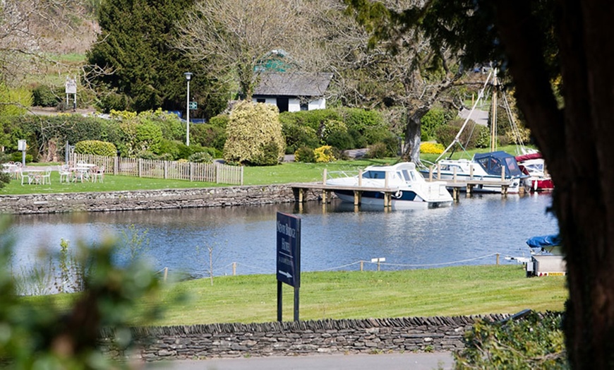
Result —
<path fill-rule="evenodd" d="M 438 169 L 440 174 L 438 174 Z M 421 172 L 429 174 L 429 169 Z M 507 193 L 519 193 L 523 180 L 529 175 L 523 174 L 516 162 L 516 158 L 503 151 L 476 153 L 471 160 L 440 160 L 438 166 L 433 168 L 433 178 L 452 180 L 456 176 L 458 181 L 485 181 L 477 184 L 472 191 L 481 193 L 501 193 L 501 186 L 488 184 L 488 181 L 511 181 Z"/>

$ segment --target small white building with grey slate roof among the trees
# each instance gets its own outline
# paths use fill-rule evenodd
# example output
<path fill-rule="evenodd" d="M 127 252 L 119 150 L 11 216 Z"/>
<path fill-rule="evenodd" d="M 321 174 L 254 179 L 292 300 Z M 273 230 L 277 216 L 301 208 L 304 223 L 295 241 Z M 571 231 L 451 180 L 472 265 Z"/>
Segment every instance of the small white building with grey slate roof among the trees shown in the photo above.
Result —
<path fill-rule="evenodd" d="M 332 73 L 262 73 L 253 102 L 277 105 L 279 112 L 325 109 Z"/>

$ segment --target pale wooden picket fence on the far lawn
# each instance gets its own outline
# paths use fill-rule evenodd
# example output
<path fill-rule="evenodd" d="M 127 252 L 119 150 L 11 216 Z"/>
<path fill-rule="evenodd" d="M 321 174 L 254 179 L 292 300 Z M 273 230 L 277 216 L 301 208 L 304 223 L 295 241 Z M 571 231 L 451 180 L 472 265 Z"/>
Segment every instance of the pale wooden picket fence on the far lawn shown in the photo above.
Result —
<path fill-rule="evenodd" d="M 92 163 L 98 167 L 104 167 L 106 174 L 243 185 L 243 167 L 222 165 L 221 163 L 143 160 L 140 158 L 102 157 L 100 155 L 77 153 L 73 153 L 71 161 L 73 163 Z"/>

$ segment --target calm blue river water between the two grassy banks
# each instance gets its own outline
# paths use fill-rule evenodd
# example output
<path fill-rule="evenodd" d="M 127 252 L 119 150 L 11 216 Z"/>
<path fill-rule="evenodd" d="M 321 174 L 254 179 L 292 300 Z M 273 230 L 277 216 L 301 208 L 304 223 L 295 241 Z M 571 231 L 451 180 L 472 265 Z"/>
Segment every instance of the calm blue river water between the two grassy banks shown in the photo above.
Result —
<path fill-rule="evenodd" d="M 445 265 L 494 264 L 505 256 L 529 256 L 529 237 L 558 232 L 546 212 L 549 194 L 474 195 L 450 208 L 385 212 L 354 211 L 352 205 L 311 202 L 233 208 L 150 210 L 84 215 L 20 215 L 11 232 L 16 238 L 13 263 L 28 265 L 38 251 L 59 251 L 105 236 L 121 239 L 136 230 L 145 237 L 143 253 L 156 270 L 207 274 L 212 248 L 214 275 L 275 273 L 277 212 L 301 217 L 303 271 L 375 270 L 371 258 L 385 258 L 383 270 Z M 128 253 L 126 251 L 126 253 Z M 124 253 L 124 255 L 126 254 Z M 120 253 L 121 254 L 121 253 Z"/>

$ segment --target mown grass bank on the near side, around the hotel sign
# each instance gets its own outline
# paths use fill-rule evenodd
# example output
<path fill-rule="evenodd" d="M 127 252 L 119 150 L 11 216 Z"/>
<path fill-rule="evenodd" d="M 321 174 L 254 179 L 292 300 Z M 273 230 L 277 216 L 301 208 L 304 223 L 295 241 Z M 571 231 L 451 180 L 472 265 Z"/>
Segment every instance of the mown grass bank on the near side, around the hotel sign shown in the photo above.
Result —
<path fill-rule="evenodd" d="M 562 311 L 567 299 L 565 277 L 527 278 L 519 265 L 303 273 L 301 280 L 301 320 Z M 294 290 L 284 285 L 283 292 L 284 321 L 291 321 Z M 176 294 L 188 299 L 174 302 Z M 179 282 L 161 297 L 165 315 L 152 325 L 277 320 L 272 274 L 215 277 L 213 285 L 209 279 Z"/>

